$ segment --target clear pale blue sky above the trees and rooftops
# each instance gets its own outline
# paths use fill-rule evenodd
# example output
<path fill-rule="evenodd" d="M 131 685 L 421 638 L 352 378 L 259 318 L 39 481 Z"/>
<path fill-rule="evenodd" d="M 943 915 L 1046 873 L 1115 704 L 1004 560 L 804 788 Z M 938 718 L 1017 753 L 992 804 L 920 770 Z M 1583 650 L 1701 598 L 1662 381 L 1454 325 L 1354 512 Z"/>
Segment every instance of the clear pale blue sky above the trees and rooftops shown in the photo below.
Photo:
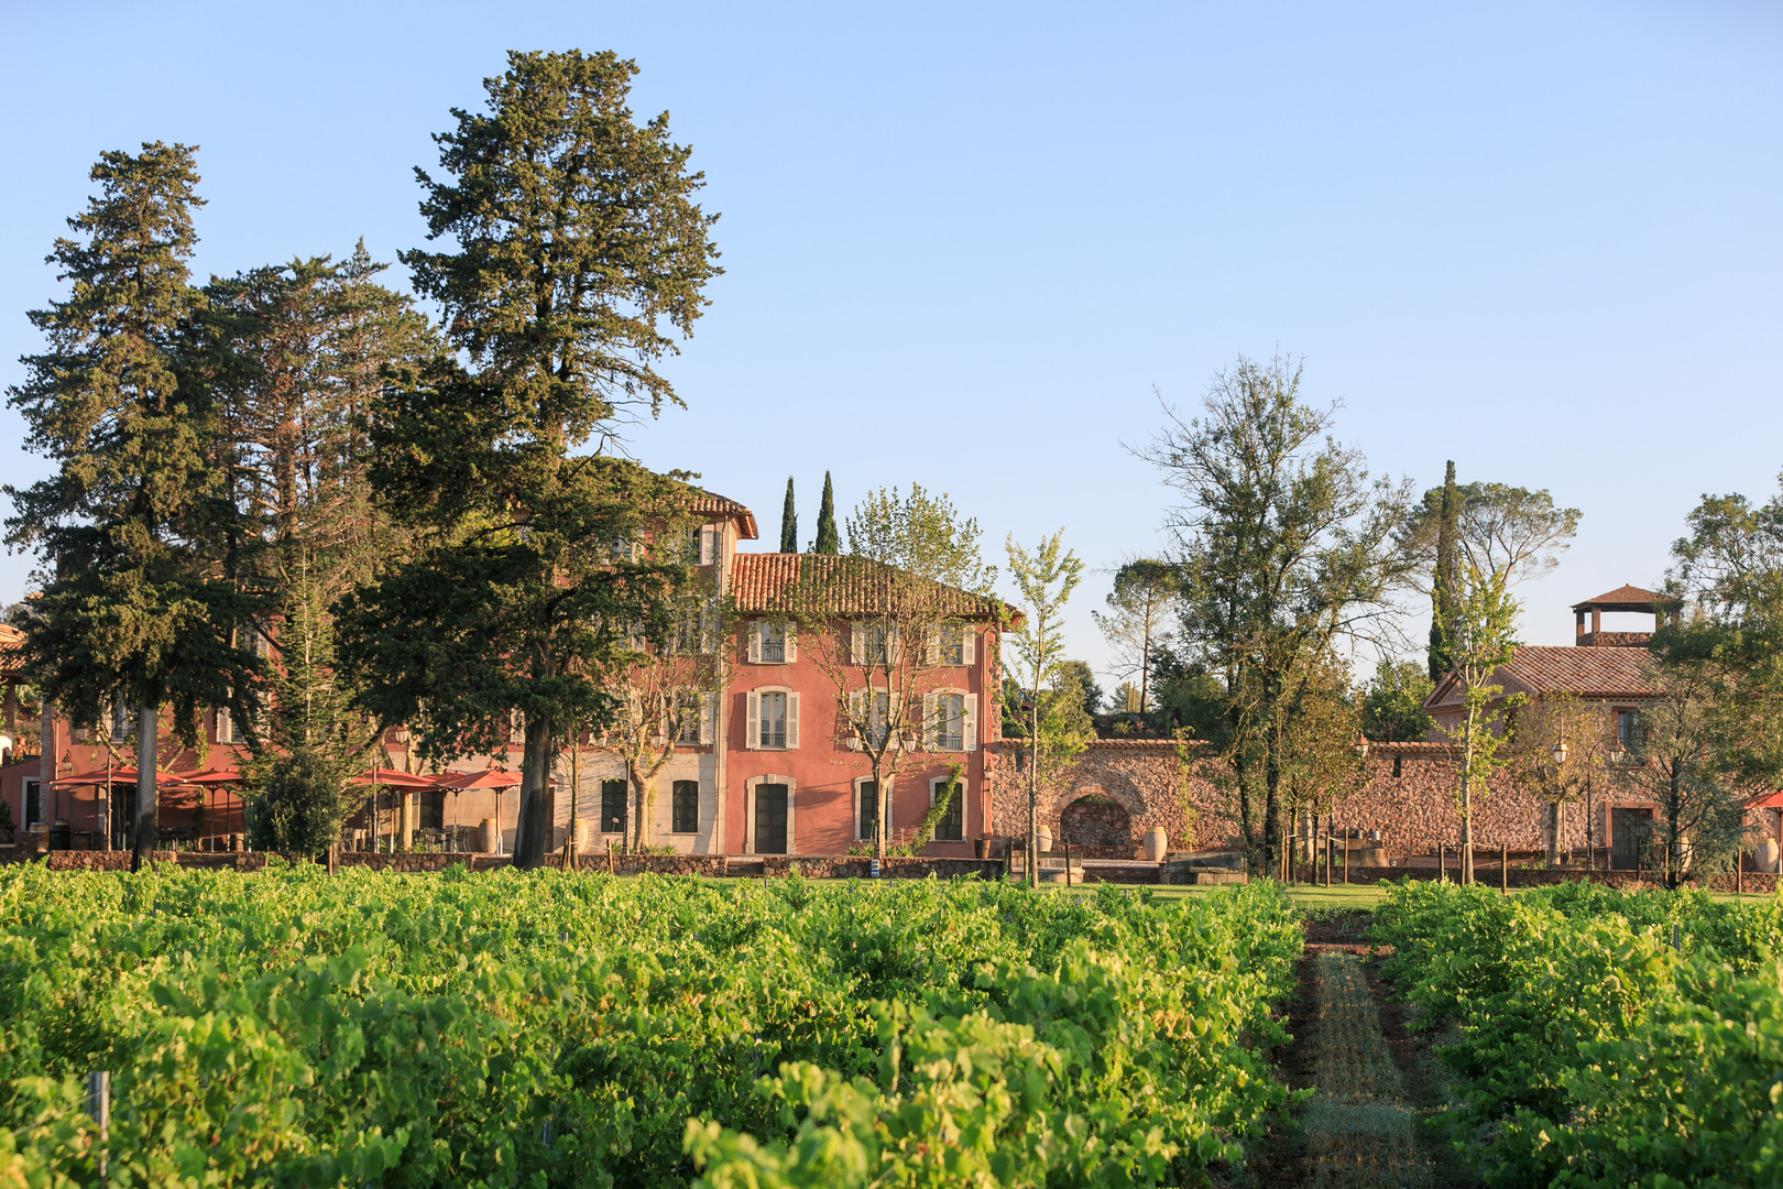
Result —
<path fill-rule="evenodd" d="M 1376 471 L 1583 510 L 1524 638 L 1664 572 L 1703 492 L 1769 496 L 1783 9 L 0 5 L 0 383 L 107 148 L 203 146 L 198 267 L 419 242 L 412 166 L 508 48 L 635 57 L 727 269 L 631 446 L 777 538 L 920 481 L 1095 567 L 1171 496 L 1122 442 L 1239 353 L 1305 355 Z M 399 276 L 399 269 L 392 269 Z M 7 481 L 43 463 L 0 414 Z M 29 563 L 0 558 L 0 597 Z M 1075 651 L 1100 661 L 1079 594 Z M 1630 624 L 1631 626 L 1631 624 Z M 1414 636 L 1423 622 L 1410 622 Z"/>

